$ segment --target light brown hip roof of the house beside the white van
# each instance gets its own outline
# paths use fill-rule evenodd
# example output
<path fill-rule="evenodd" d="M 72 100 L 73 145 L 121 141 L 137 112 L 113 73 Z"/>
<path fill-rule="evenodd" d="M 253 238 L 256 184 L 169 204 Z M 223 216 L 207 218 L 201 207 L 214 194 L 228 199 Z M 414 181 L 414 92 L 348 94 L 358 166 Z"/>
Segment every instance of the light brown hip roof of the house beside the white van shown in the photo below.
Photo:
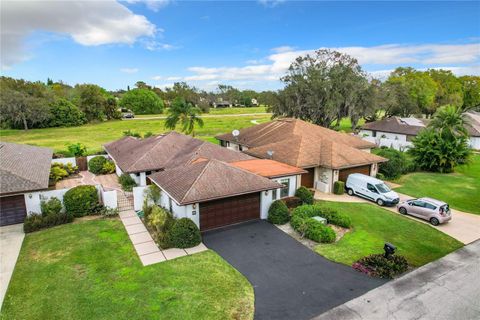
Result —
<path fill-rule="evenodd" d="M 273 151 L 271 159 L 300 168 L 341 169 L 386 161 L 359 150 L 374 147 L 370 142 L 298 119 L 279 119 L 242 129 L 238 140 L 231 134 L 217 138 L 238 141 L 249 147 L 245 153 L 258 158 L 267 158 L 267 152 Z"/>

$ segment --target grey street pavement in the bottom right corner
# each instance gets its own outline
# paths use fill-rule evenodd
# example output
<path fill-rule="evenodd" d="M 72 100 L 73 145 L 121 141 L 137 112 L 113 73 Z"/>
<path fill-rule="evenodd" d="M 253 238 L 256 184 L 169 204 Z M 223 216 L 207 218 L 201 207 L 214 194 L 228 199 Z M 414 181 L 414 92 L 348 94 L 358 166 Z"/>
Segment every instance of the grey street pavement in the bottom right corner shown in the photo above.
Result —
<path fill-rule="evenodd" d="M 479 275 L 476 241 L 315 319 L 480 319 Z"/>

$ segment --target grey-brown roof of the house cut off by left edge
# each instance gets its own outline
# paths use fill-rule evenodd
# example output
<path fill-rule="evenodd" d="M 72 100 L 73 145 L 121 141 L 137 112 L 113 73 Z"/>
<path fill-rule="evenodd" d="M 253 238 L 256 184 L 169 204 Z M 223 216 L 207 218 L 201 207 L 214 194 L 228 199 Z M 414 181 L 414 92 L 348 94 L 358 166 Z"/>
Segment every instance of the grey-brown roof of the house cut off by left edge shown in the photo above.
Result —
<path fill-rule="evenodd" d="M 48 188 L 53 151 L 0 142 L 0 194 Z"/>

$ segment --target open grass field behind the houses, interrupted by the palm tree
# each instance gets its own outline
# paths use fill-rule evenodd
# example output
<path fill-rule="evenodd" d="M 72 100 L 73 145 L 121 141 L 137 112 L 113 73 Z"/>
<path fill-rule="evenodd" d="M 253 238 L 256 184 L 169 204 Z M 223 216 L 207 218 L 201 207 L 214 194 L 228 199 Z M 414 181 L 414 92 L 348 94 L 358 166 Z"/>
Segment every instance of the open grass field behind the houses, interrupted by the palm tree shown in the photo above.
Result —
<path fill-rule="evenodd" d="M 218 143 L 215 135 L 231 132 L 233 129 L 241 129 L 253 126 L 252 120 L 259 123 L 270 120 L 268 115 L 205 118 L 205 126 L 198 128 L 196 137 L 202 140 Z M 88 148 L 90 154 L 102 149 L 102 145 L 119 139 L 123 132 L 132 130 L 144 134 L 151 131 L 155 134 L 165 132 L 164 120 L 135 120 L 135 121 L 106 121 L 96 124 L 86 124 L 70 128 L 46 128 L 32 130 L 0 130 L 2 141 L 31 144 L 42 147 L 50 147 L 55 152 L 66 152 L 66 145 L 81 142 Z"/>

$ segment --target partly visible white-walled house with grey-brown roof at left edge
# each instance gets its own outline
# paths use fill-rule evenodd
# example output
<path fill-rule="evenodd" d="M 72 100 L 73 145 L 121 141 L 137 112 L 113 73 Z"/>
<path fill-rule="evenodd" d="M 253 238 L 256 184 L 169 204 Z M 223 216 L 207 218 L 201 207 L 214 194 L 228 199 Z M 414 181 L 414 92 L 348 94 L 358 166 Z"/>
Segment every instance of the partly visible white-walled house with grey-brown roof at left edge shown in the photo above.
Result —
<path fill-rule="evenodd" d="M 53 151 L 0 142 L 0 226 L 23 223 L 28 198 L 48 188 Z"/>

